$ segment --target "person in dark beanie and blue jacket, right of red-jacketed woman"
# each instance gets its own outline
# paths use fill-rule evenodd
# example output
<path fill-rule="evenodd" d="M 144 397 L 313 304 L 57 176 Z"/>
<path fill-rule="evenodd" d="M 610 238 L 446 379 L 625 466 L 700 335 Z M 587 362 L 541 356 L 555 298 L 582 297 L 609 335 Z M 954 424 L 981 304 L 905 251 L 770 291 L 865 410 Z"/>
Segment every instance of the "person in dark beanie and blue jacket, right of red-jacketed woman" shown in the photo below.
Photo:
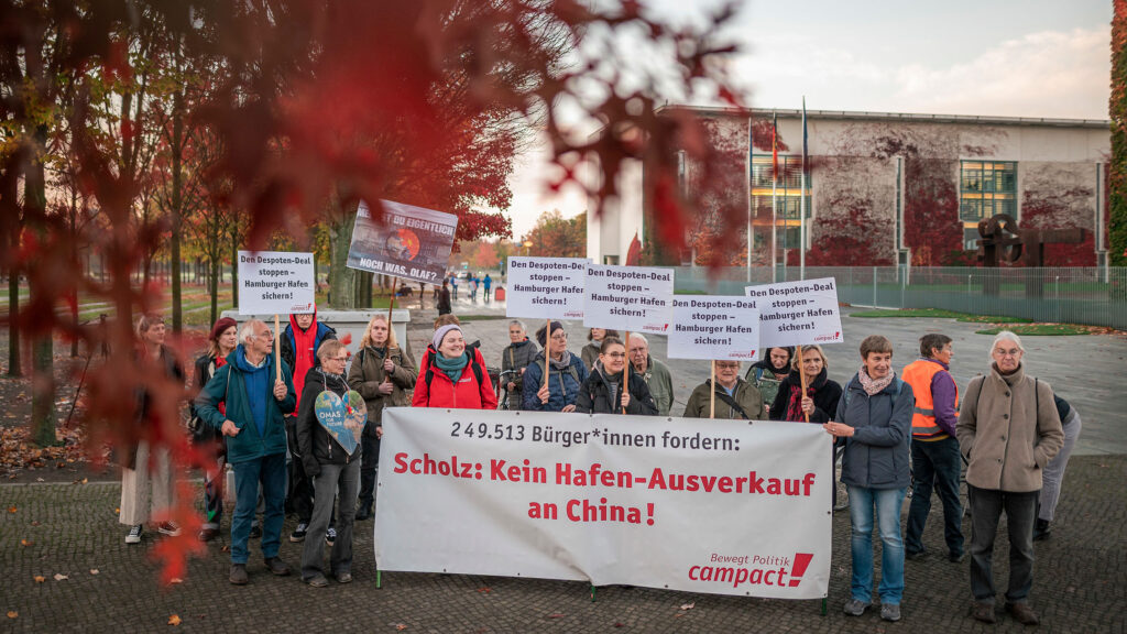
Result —
<path fill-rule="evenodd" d="M 575 399 L 587 380 L 587 368 L 582 359 L 568 352 L 564 324 L 552 322 L 551 326 L 550 340 L 547 325 L 536 331 L 536 341 L 544 350 L 536 353 L 524 371 L 522 407 L 533 412 L 575 412 Z M 545 369 L 548 385 L 544 385 Z"/>

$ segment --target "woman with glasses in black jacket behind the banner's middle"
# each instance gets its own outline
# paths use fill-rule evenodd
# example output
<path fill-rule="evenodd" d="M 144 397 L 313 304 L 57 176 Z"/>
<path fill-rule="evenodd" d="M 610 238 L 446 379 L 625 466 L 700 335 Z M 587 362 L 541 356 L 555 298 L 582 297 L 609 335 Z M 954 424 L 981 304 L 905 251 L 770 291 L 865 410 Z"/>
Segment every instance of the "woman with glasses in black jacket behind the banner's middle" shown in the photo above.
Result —
<path fill-rule="evenodd" d="M 630 372 L 627 389 L 622 389 L 622 371 L 627 366 L 627 346 L 613 336 L 603 338 L 595 368 L 587 376 L 575 402 L 575 411 L 584 414 L 627 414 L 656 416 L 657 403 L 649 387 L 637 372 Z"/>

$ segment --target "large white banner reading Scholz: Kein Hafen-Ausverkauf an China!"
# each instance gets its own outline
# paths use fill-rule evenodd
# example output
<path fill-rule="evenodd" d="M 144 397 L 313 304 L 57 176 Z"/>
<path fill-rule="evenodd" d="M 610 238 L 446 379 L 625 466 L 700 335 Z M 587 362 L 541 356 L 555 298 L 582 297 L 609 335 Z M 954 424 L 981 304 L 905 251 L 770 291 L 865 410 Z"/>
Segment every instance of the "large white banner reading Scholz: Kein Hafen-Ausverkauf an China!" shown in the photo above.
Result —
<path fill-rule="evenodd" d="M 392 407 L 383 429 L 380 570 L 826 596 L 820 425 Z"/>

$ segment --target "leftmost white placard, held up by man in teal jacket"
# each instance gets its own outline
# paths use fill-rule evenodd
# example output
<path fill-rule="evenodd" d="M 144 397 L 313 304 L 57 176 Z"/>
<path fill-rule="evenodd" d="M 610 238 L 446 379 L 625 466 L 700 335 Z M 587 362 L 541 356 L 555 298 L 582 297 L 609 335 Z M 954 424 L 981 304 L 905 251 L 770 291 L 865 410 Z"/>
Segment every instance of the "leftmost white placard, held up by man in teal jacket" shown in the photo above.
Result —
<path fill-rule="evenodd" d="M 239 314 L 312 312 L 313 254 L 239 252 Z"/>

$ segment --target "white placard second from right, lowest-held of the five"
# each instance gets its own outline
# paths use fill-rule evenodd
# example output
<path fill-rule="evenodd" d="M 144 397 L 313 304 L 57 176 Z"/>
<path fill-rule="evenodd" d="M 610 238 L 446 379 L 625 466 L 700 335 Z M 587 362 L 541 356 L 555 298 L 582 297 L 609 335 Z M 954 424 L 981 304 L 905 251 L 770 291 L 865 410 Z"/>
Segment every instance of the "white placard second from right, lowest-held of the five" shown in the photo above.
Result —
<path fill-rule="evenodd" d="M 669 359 L 760 358 L 757 300 L 729 296 L 673 298 Z"/>

